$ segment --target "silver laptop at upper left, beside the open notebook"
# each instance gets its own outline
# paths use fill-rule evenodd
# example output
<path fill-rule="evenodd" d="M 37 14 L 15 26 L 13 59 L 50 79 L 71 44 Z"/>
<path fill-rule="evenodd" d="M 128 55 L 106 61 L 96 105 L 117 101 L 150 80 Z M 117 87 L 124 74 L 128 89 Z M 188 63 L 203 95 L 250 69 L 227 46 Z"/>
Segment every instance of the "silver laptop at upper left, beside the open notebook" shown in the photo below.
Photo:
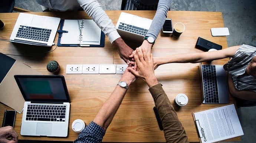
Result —
<path fill-rule="evenodd" d="M 11 42 L 52 46 L 60 18 L 20 13 L 10 37 Z"/>

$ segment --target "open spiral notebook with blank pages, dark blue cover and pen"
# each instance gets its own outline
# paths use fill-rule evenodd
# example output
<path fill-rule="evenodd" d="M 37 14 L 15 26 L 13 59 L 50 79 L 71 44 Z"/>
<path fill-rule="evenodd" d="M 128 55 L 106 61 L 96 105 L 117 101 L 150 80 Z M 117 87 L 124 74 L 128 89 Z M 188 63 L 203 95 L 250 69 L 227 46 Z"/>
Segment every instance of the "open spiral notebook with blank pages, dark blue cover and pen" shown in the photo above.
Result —
<path fill-rule="evenodd" d="M 105 35 L 93 20 L 60 20 L 58 46 L 104 47 Z"/>

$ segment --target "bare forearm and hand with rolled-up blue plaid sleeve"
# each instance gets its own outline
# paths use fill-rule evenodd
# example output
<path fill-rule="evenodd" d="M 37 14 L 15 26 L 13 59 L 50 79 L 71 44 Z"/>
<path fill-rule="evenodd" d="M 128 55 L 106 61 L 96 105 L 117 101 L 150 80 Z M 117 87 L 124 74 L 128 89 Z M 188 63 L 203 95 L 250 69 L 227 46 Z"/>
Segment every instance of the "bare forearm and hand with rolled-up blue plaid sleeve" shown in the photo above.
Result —
<path fill-rule="evenodd" d="M 131 66 L 131 65 L 129 65 Z M 125 81 L 127 85 L 131 85 L 136 80 L 136 77 L 130 73 L 128 70 L 125 70 L 119 81 Z M 86 126 L 85 129 L 79 134 L 78 138 L 74 143 L 84 143 L 86 142 L 101 142 L 106 129 L 110 125 L 116 111 L 118 110 L 127 89 L 120 86 L 116 86 L 115 90 L 104 102 L 102 107 L 99 109 L 94 120 Z"/>

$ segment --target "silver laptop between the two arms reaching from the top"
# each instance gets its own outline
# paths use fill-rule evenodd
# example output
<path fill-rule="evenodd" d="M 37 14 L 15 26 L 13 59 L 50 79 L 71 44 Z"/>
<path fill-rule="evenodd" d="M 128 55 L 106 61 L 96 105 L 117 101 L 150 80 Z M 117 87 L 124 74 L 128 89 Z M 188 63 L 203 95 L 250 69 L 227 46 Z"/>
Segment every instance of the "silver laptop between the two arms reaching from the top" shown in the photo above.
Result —
<path fill-rule="evenodd" d="M 116 30 L 123 39 L 142 42 L 152 20 L 122 12 L 116 23 Z"/>

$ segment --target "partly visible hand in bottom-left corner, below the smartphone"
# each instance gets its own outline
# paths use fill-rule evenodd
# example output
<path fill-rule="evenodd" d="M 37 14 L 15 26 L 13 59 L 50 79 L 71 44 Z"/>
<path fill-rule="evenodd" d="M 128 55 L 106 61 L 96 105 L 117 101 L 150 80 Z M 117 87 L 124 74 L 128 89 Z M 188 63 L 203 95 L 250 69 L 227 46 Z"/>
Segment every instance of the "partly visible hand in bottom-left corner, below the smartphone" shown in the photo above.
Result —
<path fill-rule="evenodd" d="M 19 135 L 11 126 L 0 128 L 0 143 L 17 143 L 18 137 Z"/>

